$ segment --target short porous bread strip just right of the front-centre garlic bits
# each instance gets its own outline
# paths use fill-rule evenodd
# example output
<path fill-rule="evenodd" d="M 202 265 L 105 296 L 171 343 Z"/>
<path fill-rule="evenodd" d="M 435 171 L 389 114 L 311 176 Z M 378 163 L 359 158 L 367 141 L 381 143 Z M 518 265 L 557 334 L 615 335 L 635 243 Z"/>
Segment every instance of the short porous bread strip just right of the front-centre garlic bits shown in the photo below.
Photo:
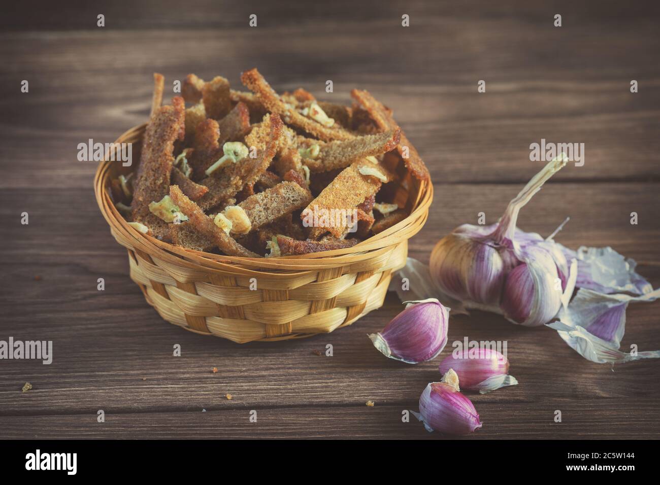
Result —
<path fill-rule="evenodd" d="M 251 230 L 265 226 L 312 201 L 312 194 L 295 182 L 282 182 L 272 189 L 251 195 L 238 205 L 248 214 Z"/>

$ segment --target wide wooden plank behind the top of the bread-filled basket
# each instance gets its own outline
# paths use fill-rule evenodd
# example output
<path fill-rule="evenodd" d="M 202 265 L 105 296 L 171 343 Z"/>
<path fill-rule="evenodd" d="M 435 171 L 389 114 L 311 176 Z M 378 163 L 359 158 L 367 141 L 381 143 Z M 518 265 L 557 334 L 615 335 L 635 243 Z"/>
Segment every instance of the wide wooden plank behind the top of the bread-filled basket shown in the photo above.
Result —
<path fill-rule="evenodd" d="M 144 122 L 152 71 L 164 73 L 168 90 L 190 71 L 206 78 L 222 71 L 240 86 L 240 72 L 252 64 L 279 90 L 302 85 L 322 98 L 350 102 L 351 88 L 370 89 L 393 108 L 438 181 L 523 181 L 536 165 L 529 145 L 542 138 L 585 143 L 585 166 L 564 170 L 558 180 L 660 179 L 660 38 L 647 16 L 615 29 L 582 18 L 579 32 L 569 25 L 557 34 L 541 18 L 475 15 L 410 29 L 374 16 L 339 37 L 331 21 L 314 17 L 256 29 L 5 34 L 0 53 L 9 61 L 0 79 L 16 86 L 2 94 L 13 119 L 5 128 L 12 141 L 5 156 L 16 165 L 38 162 L 42 176 L 32 180 L 11 171 L 0 187 L 88 187 L 94 164 L 77 162 L 75 146 L 90 137 L 114 141 Z M 388 35 L 380 36 L 385 29 Z M 369 51 L 364 39 L 376 36 L 380 48 Z M 540 42 L 541 36 L 554 37 Z M 176 39 L 176 48 L 169 39 Z M 43 48 L 46 41 L 51 48 Z M 50 49 L 70 55 L 53 57 Z M 282 49 L 289 53 L 284 59 Z M 203 60 L 211 52 L 220 53 L 220 67 Z M 116 57 L 121 63 L 108 65 L 106 59 Z M 558 60 L 548 65 L 548 59 Z M 28 94 L 20 93 L 20 79 L 30 81 Z M 323 93 L 327 79 L 335 83 L 333 94 Z M 477 92 L 480 79 L 486 93 Z M 640 92 L 630 93 L 631 79 L 640 82 Z M 41 150 L 35 137 L 51 150 Z"/>

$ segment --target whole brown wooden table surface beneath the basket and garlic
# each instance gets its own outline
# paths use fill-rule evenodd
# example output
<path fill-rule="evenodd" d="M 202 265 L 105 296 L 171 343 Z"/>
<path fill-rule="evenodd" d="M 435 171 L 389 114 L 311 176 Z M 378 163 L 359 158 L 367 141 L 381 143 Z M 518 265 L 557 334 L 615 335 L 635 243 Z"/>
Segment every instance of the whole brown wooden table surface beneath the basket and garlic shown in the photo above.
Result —
<path fill-rule="evenodd" d="M 256 66 L 278 90 L 304 86 L 342 102 L 351 88 L 370 90 L 393 108 L 432 174 L 430 216 L 410 242 L 410 255 L 424 262 L 439 238 L 475 224 L 478 212 L 497 220 L 541 168 L 529 161 L 530 143 L 585 143 L 584 166 L 557 174 L 519 226 L 547 235 L 571 216 L 560 242 L 611 245 L 660 285 L 658 4 L 543 4 L 168 0 L 6 9 L 0 340 L 53 340 L 54 356 L 51 365 L 0 361 L 0 437 L 440 437 L 402 422 L 401 412 L 418 408 L 441 358 L 401 364 L 366 337 L 401 310 L 393 294 L 335 333 L 244 345 L 185 332 L 145 302 L 94 201 L 96 164 L 77 161 L 77 144 L 114 141 L 145 121 L 154 71 L 167 86 L 189 72 L 238 86 L 240 72 Z M 257 28 L 248 27 L 251 13 Z M 20 92 L 24 79 L 28 93 Z M 334 94 L 324 92 L 327 79 Z M 624 350 L 660 348 L 658 305 L 629 307 Z M 520 382 L 470 395 L 484 426 L 469 439 L 660 437 L 660 360 L 593 364 L 550 329 L 479 311 L 451 318 L 449 342 L 465 336 L 507 340 Z M 174 344 L 182 356 L 172 356 Z M 332 357 L 315 354 L 326 344 Z M 22 393 L 26 381 L 34 387 Z"/>

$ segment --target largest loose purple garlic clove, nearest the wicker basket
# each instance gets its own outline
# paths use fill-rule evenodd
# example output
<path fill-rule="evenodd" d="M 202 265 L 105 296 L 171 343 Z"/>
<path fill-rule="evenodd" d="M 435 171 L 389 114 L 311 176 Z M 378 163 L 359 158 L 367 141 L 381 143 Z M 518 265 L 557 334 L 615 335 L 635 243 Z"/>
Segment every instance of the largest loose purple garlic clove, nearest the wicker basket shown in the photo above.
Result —
<path fill-rule="evenodd" d="M 436 358 L 447 344 L 449 308 L 435 298 L 404 303 L 405 310 L 369 338 L 383 355 L 407 364 Z"/>

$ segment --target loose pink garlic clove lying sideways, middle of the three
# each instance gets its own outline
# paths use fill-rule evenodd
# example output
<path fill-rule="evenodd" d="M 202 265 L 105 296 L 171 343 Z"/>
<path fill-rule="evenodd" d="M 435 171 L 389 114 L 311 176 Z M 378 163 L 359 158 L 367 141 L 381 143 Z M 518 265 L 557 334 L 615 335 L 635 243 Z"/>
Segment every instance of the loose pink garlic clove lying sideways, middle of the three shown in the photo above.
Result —
<path fill-rule="evenodd" d="M 463 389 L 489 393 L 508 385 L 516 385 L 517 379 L 509 375 L 509 360 L 490 348 L 474 348 L 452 352 L 439 366 L 440 373 L 453 370 Z"/>

